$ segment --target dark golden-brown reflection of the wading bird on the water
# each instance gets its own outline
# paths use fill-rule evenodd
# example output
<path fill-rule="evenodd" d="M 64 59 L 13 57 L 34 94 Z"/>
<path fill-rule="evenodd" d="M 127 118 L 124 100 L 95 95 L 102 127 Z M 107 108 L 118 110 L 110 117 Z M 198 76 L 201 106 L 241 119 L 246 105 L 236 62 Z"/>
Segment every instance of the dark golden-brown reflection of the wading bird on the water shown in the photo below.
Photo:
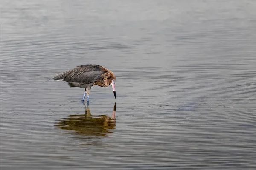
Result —
<path fill-rule="evenodd" d="M 113 133 L 110 130 L 116 127 L 116 103 L 111 116 L 92 115 L 90 108 L 85 105 L 84 107 L 85 114 L 61 118 L 55 123 L 55 126 L 88 136 L 105 136 L 107 133 Z"/>

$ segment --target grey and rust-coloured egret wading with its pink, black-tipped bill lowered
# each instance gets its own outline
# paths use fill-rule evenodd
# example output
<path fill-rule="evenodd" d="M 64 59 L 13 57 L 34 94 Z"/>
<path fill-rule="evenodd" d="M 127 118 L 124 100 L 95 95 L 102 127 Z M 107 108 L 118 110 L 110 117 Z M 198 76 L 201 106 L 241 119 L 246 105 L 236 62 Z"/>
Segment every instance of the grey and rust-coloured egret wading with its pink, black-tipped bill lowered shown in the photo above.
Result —
<path fill-rule="evenodd" d="M 84 101 L 87 95 L 87 102 L 89 102 L 90 90 L 93 85 L 100 87 L 108 87 L 111 85 L 116 98 L 116 76 L 112 71 L 101 65 L 80 65 L 72 70 L 55 75 L 53 80 L 66 81 L 70 87 L 84 88 L 85 92 L 82 101 Z"/>

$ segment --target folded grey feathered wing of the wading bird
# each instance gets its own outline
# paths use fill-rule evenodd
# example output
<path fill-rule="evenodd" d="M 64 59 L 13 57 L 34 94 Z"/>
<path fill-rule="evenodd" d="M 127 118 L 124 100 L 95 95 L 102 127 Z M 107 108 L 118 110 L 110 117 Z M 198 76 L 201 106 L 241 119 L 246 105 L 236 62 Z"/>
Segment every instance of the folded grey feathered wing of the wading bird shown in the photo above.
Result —
<path fill-rule="evenodd" d="M 70 71 L 57 74 L 53 79 L 88 84 L 100 79 L 103 73 L 102 67 L 99 65 L 81 65 Z"/>

